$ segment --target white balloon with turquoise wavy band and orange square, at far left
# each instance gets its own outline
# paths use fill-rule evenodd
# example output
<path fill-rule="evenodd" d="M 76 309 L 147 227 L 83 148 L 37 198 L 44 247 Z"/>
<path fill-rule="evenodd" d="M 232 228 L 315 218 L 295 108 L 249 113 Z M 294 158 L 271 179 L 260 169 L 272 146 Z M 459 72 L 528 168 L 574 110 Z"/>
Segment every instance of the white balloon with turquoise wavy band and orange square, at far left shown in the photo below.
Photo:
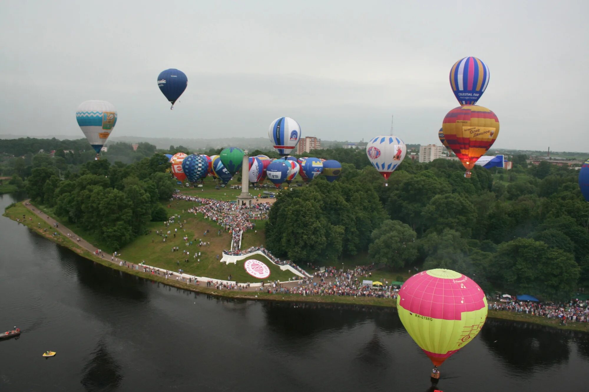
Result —
<path fill-rule="evenodd" d="M 117 124 L 117 109 L 107 101 L 84 101 L 78 106 L 75 118 L 98 158 L 98 152 Z"/>

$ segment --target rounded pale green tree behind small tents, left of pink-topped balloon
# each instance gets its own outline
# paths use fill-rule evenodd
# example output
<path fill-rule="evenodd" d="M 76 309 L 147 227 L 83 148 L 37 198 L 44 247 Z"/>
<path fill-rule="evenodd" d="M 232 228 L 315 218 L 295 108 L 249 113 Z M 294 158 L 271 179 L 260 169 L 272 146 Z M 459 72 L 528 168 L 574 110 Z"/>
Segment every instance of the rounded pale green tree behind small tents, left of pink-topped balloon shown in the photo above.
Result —
<path fill-rule="evenodd" d="M 368 249 L 375 263 L 395 268 L 411 264 L 418 256 L 415 239 L 417 234 L 401 221 L 386 220 L 372 232 L 372 243 Z"/>

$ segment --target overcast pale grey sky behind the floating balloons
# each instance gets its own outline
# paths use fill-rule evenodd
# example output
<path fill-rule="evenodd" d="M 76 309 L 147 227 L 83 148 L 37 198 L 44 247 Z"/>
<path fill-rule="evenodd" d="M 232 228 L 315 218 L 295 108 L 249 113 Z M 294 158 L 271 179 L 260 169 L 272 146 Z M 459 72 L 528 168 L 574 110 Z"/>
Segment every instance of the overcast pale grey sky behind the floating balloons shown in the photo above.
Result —
<path fill-rule="evenodd" d="M 0 134 L 81 137 L 75 109 L 115 105 L 112 135 L 394 134 L 439 143 L 458 59 L 491 71 L 495 147 L 589 151 L 587 1 L 11 1 L 0 3 Z M 188 88 L 174 111 L 157 75 Z"/>

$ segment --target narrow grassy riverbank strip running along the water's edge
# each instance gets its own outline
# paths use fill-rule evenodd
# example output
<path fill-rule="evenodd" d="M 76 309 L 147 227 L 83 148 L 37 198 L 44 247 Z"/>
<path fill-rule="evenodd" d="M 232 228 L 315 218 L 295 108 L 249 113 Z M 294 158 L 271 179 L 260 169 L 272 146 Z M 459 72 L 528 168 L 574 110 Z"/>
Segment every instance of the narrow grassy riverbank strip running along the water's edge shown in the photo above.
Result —
<path fill-rule="evenodd" d="M 309 303 L 329 303 L 329 304 L 353 304 L 353 305 L 367 305 L 379 307 L 396 307 L 396 301 L 388 298 L 374 298 L 374 297 L 350 297 L 337 295 L 300 295 L 300 294 L 269 294 L 263 291 L 239 291 L 239 290 L 216 290 L 215 288 L 206 287 L 206 285 L 195 285 L 184 283 L 173 278 L 166 279 L 161 275 L 153 275 L 145 273 L 140 270 L 134 270 L 125 265 L 119 265 L 106 258 L 98 257 L 91 251 L 84 248 L 83 244 L 88 244 L 84 240 L 77 242 L 76 238 L 70 238 L 65 235 L 53 235 L 57 231 L 55 227 L 49 225 L 48 222 L 53 222 L 51 217 L 42 214 L 38 215 L 38 209 L 32 205 L 25 205 L 26 201 L 15 203 L 6 208 L 4 216 L 11 220 L 17 221 L 29 227 L 31 230 L 37 232 L 57 244 L 70 248 L 70 250 L 87 258 L 88 260 L 100 263 L 106 267 L 114 268 L 115 270 L 123 271 L 124 273 L 136 275 L 148 280 L 156 281 L 173 287 L 181 288 L 183 290 L 194 291 L 197 293 L 204 293 L 209 295 L 216 295 L 227 298 L 240 298 L 244 300 L 267 300 L 267 301 L 289 301 L 289 302 L 309 302 Z M 30 207 L 30 208 L 29 208 Z M 31 208 L 35 208 L 33 212 Z M 22 216 L 25 215 L 25 219 Z M 63 229 L 63 227 L 60 227 Z M 92 245 L 88 244 L 90 247 Z M 537 317 L 530 314 L 519 314 L 509 311 L 489 310 L 489 318 L 498 318 L 502 320 L 519 321 L 523 323 L 534 323 L 547 325 L 562 330 L 575 330 L 589 332 L 589 323 L 568 323 L 567 325 L 560 325 L 557 320 L 549 320 L 545 317 Z"/>

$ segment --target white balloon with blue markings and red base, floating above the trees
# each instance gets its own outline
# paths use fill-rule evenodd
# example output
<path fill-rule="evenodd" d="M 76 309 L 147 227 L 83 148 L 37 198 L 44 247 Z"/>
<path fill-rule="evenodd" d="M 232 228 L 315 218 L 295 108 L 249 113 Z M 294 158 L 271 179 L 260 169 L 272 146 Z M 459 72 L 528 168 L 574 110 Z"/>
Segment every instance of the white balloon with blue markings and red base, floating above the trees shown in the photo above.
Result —
<path fill-rule="evenodd" d="M 368 160 L 385 177 L 385 186 L 389 185 L 391 173 L 399 167 L 406 153 L 405 143 L 393 135 L 377 136 L 366 145 Z"/>

